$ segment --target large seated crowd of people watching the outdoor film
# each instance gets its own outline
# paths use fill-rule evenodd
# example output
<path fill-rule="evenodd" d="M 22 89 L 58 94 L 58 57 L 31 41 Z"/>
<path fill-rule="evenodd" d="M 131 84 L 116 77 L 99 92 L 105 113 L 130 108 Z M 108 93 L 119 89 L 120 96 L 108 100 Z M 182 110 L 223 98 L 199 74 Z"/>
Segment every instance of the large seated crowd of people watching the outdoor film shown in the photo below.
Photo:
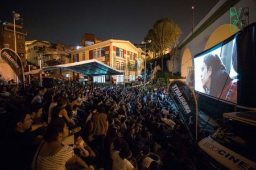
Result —
<path fill-rule="evenodd" d="M 167 87 L 131 85 L 1 86 L 0 166 L 192 169 L 189 137 Z M 64 145 L 72 135 L 73 145 Z"/>

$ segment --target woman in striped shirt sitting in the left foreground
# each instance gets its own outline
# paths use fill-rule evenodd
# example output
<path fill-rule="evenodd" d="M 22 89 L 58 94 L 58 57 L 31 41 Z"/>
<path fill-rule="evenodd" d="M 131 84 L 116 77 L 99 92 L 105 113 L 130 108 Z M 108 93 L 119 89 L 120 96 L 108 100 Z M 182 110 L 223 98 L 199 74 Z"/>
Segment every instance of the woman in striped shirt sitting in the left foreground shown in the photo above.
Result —
<path fill-rule="evenodd" d="M 44 141 L 36 151 L 32 162 L 32 170 L 65 169 L 67 163 L 77 163 L 80 167 L 88 168 L 88 165 L 74 154 L 72 146 L 62 144 L 68 135 L 68 126 L 63 119 L 52 120 L 47 127 Z"/>

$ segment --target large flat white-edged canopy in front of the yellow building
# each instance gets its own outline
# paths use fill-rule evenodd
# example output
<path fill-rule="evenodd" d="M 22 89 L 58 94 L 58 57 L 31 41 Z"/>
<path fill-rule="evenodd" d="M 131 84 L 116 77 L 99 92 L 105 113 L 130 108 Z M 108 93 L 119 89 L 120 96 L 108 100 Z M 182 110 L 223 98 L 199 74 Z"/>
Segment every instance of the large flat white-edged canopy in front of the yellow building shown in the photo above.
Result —
<path fill-rule="evenodd" d="M 89 59 L 86 61 L 67 63 L 64 65 L 56 65 L 51 67 L 43 67 L 43 71 L 63 69 L 73 71 L 85 76 L 97 76 L 97 75 L 121 75 L 121 71 L 114 69 L 98 61 L 97 59 Z"/>

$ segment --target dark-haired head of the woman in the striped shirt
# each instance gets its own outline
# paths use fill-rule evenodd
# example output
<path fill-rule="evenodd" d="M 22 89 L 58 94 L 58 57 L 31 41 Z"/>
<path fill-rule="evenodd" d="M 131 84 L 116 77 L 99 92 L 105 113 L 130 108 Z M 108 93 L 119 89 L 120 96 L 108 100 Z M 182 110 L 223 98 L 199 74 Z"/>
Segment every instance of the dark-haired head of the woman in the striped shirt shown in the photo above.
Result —
<path fill-rule="evenodd" d="M 65 137 L 68 137 L 69 130 L 67 124 L 65 124 L 62 118 L 57 118 L 52 120 L 51 123 L 47 126 L 46 135 L 44 139 L 47 142 L 57 141 L 57 139 L 64 140 Z"/>

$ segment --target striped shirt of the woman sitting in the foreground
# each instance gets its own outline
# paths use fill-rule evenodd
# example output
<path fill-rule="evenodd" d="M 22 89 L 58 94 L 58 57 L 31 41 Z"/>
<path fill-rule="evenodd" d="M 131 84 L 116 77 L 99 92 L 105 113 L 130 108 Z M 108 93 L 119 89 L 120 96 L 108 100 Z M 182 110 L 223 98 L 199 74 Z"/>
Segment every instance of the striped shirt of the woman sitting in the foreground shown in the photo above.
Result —
<path fill-rule="evenodd" d="M 41 146 L 39 146 L 39 148 L 40 147 Z M 57 152 L 57 154 L 52 156 L 40 156 L 38 155 L 38 151 L 36 151 L 36 154 L 32 162 L 32 170 L 35 169 L 35 163 L 36 163 L 36 169 L 38 170 L 41 170 L 41 169 L 42 170 L 43 169 L 65 170 L 66 162 L 75 155 L 73 151 L 73 147 L 68 145 L 65 145 L 59 152 Z M 38 155 L 38 159 L 36 161 L 37 155 Z"/>

